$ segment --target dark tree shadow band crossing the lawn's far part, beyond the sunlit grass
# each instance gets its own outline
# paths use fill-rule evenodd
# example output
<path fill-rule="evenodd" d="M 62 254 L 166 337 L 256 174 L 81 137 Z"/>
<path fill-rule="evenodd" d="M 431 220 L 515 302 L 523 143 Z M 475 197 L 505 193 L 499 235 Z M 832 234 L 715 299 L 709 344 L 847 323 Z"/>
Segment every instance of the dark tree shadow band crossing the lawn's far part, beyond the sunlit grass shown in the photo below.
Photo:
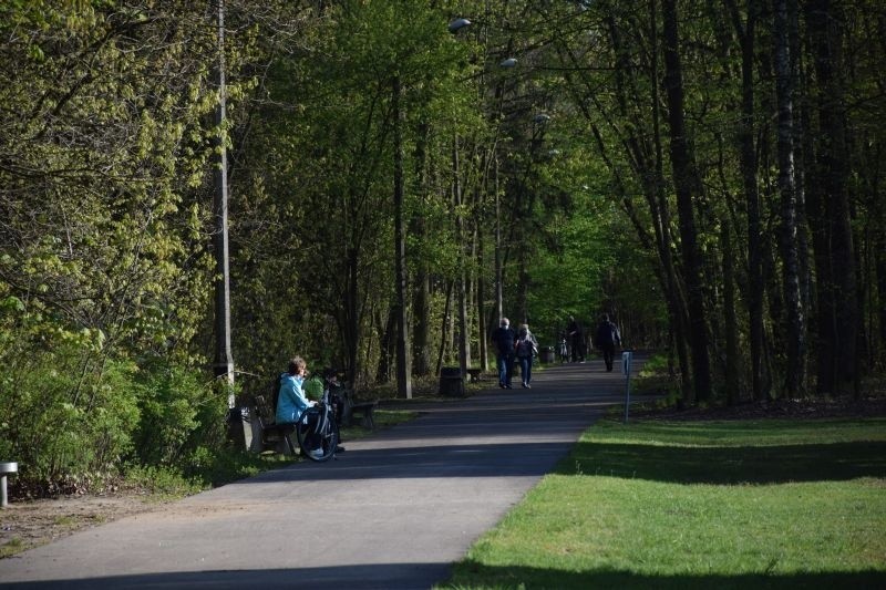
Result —
<path fill-rule="evenodd" d="M 842 482 L 886 477 L 886 442 L 742 447 L 578 443 L 557 473 L 679 484 Z"/>

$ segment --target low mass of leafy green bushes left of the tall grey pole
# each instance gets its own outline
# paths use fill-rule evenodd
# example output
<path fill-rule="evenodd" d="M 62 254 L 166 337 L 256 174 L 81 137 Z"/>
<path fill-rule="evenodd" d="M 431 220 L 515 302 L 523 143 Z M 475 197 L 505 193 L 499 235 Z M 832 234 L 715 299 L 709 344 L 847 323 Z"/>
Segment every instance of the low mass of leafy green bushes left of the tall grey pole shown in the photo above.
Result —
<path fill-rule="evenodd" d="M 124 465 L 182 472 L 224 446 L 227 384 L 171 362 L 112 354 L 99 330 L 66 331 L 14 298 L 0 306 L 0 459 L 30 494 L 89 489 Z"/>

